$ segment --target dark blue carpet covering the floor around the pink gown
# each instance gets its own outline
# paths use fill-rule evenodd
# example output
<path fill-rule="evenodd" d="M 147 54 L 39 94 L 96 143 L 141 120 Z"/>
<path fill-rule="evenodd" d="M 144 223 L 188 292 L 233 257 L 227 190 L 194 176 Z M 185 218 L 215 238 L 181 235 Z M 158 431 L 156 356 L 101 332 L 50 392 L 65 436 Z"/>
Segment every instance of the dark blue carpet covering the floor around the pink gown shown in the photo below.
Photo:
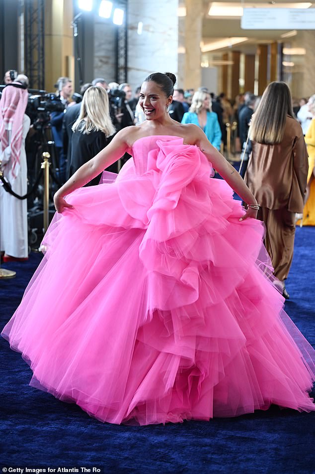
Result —
<path fill-rule="evenodd" d="M 286 303 L 286 311 L 313 345 L 314 241 L 315 228 L 297 229 L 287 282 L 291 300 Z M 3 265 L 16 270 L 17 276 L 0 281 L 1 328 L 39 260 L 40 255 L 32 253 L 26 263 Z M 42 467 L 46 473 L 48 467 L 55 473 L 58 467 L 85 467 L 90 473 L 98 468 L 105 474 L 315 472 L 314 412 L 272 407 L 210 422 L 148 427 L 102 424 L 76 405 L 29 387 L 30 368 L 2 338 L 0 347 L 2 466 Z"/>

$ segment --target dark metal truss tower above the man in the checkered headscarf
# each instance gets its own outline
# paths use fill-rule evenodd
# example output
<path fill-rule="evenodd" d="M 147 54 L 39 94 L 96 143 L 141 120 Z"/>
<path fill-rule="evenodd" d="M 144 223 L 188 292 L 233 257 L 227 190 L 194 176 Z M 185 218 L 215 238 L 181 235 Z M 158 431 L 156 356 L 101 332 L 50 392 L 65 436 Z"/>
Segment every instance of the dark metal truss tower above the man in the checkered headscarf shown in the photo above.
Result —
<path fill-rule="evenodd" d="M 45 0 L 24 0 L 25 74 L 32 89 L 45 87 Z"/>

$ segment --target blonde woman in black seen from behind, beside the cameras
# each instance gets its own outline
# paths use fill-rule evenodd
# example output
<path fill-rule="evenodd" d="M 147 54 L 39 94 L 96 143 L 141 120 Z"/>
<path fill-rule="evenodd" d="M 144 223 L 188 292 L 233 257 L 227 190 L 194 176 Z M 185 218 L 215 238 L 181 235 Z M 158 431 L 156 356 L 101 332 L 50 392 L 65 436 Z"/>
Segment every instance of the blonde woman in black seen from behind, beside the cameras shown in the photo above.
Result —
<path fill-rule="evenodd" d="M 105 148 L 115 133 L 109 115 L 108 95 L 103 87 L 91 86 L 83 96 L 80 115 L 72 127 L 71 163 L 69 175 L 72 176 L 80 166 Z M 99 183 L 100 175 L 86 186 Z"/>

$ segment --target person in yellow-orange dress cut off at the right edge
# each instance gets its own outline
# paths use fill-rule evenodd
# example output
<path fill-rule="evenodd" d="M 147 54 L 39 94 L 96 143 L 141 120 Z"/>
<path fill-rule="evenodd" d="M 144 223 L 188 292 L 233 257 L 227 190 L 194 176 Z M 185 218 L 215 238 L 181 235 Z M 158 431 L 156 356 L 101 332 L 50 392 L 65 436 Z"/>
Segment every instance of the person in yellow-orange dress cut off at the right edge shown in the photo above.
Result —
<path fill-rule="evenodd" d="M 307 106 L 313 119 L 305 134 L 305 142 L 309 153 L 309 174 L 307 189 L 308 198 L 303 211 L 303 225 L 315 226 L 315 94 L 310 97 Z"/>

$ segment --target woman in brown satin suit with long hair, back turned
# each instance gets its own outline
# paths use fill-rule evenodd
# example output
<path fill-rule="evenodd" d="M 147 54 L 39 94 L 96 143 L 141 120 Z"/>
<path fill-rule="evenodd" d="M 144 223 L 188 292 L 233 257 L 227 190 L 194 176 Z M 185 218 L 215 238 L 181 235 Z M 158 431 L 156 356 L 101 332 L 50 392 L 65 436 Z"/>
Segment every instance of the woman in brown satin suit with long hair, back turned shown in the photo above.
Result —
<path fill-rule="evenodd" d="M 268 85 L 250 126 L 252 154 L 244 180 L 265 223 L 265 245 L 275 276 L 284 281 L 293 257 L 295 213 L 303 212 L 308 154 L 301 125 L 294 119 L 290 89 L 284 82 Z"/>

